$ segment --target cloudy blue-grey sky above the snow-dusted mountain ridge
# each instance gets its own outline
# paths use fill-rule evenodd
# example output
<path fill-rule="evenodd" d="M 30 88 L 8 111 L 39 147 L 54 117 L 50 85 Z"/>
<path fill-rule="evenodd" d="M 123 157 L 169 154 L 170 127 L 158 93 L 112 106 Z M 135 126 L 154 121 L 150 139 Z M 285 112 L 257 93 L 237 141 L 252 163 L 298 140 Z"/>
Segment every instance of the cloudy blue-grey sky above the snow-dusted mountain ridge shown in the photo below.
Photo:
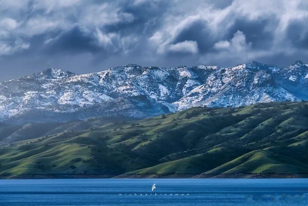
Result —
<path fill-rule="evenodd" d="M 308 0 L 0 0 L 0 81 L 252 60 L 308 63 Z"/>

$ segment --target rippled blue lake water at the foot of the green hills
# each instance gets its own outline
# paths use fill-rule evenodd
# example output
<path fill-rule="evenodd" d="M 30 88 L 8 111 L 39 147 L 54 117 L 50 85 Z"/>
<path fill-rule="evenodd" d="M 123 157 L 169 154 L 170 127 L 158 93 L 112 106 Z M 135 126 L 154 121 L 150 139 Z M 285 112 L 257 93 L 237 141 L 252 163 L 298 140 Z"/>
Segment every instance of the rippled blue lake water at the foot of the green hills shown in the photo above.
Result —
<path fill-rule="evenodd" d="M 0 180 L 0 205 L 307 206 L 307 190 L 308 179 L 15 179 Z"/>

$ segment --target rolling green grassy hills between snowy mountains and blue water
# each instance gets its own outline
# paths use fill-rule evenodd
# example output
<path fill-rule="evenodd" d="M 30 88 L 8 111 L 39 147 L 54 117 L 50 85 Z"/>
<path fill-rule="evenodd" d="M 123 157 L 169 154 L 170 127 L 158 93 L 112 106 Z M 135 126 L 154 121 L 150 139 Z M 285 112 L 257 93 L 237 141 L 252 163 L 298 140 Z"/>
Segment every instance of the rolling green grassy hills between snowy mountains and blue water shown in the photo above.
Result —
<path fill-rule="evenodd" d="M 43 127 L 40 137 L 11 140 L 0 148 L 0 175 L 308 174 L 306 102 L 195 107 L 132 122 L 89 121 Z"/>

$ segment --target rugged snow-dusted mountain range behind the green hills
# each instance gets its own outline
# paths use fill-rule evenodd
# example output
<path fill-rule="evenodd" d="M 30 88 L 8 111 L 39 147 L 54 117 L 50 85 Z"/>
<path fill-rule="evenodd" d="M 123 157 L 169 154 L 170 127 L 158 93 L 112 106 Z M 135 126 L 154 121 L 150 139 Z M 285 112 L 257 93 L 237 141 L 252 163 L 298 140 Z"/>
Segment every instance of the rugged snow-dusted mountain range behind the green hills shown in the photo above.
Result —
<path fill-rule="evenodd" d="M 158 68 L 128 64 L 98 73 L 50 68 L 0 83 L 0 120 L 70 120 L 91 116 L 147 117 L 193 106 L 241 106 L 308 99 L 308 64 L 250 62 Z"/>

